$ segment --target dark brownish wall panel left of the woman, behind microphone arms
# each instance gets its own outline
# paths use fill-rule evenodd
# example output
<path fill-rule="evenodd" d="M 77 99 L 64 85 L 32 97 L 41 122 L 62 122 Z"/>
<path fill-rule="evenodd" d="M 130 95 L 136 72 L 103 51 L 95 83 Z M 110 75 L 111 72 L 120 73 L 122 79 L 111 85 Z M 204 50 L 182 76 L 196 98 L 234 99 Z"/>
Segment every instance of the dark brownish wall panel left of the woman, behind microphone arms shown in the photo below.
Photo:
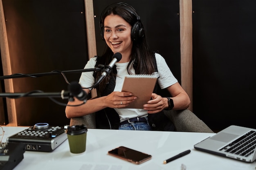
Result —
<path fill-rule="evenodd" d="M 88 60 L 84 0 L 2 0 L 12 73 L 82 69 Z M 67 74 L 79 81 L 80 74 Z M 13 79 L 14 92 L 61 92 L 61 75 Z M 67 100 L 58 99 L 67 103 Z M 69 124 L 65 106 L 48 98 L 16 99 L 18 125 Z"/>

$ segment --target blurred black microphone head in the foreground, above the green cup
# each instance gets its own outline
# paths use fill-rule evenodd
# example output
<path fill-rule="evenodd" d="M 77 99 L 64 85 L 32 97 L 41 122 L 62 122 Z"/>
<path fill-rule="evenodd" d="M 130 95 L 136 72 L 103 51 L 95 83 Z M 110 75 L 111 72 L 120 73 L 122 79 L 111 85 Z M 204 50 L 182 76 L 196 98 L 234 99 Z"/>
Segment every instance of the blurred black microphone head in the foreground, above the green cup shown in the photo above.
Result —
<path fill-rule="evenodd" d="M 79 100 L 86 101 L 87 93 L 83 90 L 81 85 L 77 82 L 71 82 L 68 90 L 70 91 L 71 95 L 76 97 Z"/>

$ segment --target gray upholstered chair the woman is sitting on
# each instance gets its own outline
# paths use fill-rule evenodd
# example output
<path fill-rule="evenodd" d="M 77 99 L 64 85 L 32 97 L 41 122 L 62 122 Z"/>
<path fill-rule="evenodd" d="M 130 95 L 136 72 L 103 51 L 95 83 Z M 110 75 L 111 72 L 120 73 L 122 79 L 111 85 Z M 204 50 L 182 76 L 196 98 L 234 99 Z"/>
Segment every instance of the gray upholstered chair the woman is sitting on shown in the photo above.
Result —
<path fill-rule="evenodd" d="M 213 131 L 190 110 L 164 110 L 165 115 L 173 122 L 178 132 L 207 132 Z M 95 114 L 70 119 L 70 126 L 84 124 L 87 128 L 95 129 Z"/>

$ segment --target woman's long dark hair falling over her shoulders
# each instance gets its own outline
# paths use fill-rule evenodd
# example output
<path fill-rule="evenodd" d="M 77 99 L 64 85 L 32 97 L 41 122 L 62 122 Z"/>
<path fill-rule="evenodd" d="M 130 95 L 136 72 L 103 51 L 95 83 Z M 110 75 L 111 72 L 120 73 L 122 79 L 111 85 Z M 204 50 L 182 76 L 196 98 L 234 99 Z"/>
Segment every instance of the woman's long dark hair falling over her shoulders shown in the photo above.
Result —
<path fill-rule="evenodd" d="M 116 3 L 107 7 L 103 13 L 101 14 L 101 23 L 104 24 L 104 20 L 108 15 L 119 15 L 126 22 L 128 22 L 131 26 L 133 26 L 136 22 L 140 22 L 140 26 L 143 27 L 143 24 L 140 20 L 138 20 L 137 16 L 134 13 L 131 13 L 131 9 L 127 8 L 128 4 L 124 3 Z M 129 5 L 128 5 L 129 6 Z M 132 8 L 132 7 L 131 7 Z M 132 8 L 133 9 L 133 8 Z M 135 9 L 133 9 L 135 10 Z M 136 13 L 136 11 L 135 11 Z M 136 13 L 137 14 L 137 13 Z M 104 28 L 104 25 L 101 26 L 101 29 Z M 102 30 L 101 30 L 102 31 Z M 101 32 L 103 33 L 103 32 Z M 111 62 L 113 56 L 112 50 L 107 46 L 103 55 L 98 57 L 97 64 L 109 64 Z M 133 63 L 133 68 L 135 69 L 135 74 L 151 74 L 155 71 L 154 63 L 153 63 L 154 53 L 150 51 L 149 45 L 146 41 L 146 35 L 139 38 L 139 40 L 134 40 L 132 45 L 132 51 L 130 56 L 130 62 L 127 66 L 127 71 L 130 74 L 129 68 Z M 96 77 L 98 77 L 101 73 L 97 73 Z M 110 73 L 109 76 L 115 76 L 113 72 Z M 106 87 L 106 83 L 108 83 L 110 77 L 104 79 L 99 85 L 99 91 L 102 92 Z"/>

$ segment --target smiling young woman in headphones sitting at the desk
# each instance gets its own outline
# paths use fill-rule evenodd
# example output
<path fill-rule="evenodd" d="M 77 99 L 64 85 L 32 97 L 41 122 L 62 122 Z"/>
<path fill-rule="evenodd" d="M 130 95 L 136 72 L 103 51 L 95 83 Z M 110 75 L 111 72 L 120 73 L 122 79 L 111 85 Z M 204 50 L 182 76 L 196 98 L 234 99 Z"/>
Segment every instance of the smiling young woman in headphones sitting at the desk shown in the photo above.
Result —
<path fill-rule="evenodd" d="M 67 118 L 81 117 L 96 113 L 97 128 L 125 130 L 173 130 L 171 121 L 163 114 L 166 110 L 181 110 L 189 107 L 190 99 L 168 68 L 164 58 L 150 51 L 146 42 L 140 17 L 133 7 L 118 2 L 108 6 L 101 14 L 101 36 L 107 49 L 101 57 L 93 57 L 85 68 L 94 68 L 99 64 L 108 65 L 112 56 L 119 52 L 122 58 L 115 64 L 108 77 L 97 86 L 98 96 L 81 106 L 67 106 Z M 157 84 L 166 88 L 171 97 L 161 97 L 152 93 L 152 99 L 143 109 L 124 108 L 137 97 L 129 92 L 121 92 L 124 76 L 129 74 L 152 74 L 158 72 Z M 91 87 L 100 72 L 84 72 L 79 84 Z M 156 84 L 156 86 L 157 86 Z M 84 89 L 90 93 L 90 89 Z M 75 99 L 69 105 L 79 104 Z"/>

